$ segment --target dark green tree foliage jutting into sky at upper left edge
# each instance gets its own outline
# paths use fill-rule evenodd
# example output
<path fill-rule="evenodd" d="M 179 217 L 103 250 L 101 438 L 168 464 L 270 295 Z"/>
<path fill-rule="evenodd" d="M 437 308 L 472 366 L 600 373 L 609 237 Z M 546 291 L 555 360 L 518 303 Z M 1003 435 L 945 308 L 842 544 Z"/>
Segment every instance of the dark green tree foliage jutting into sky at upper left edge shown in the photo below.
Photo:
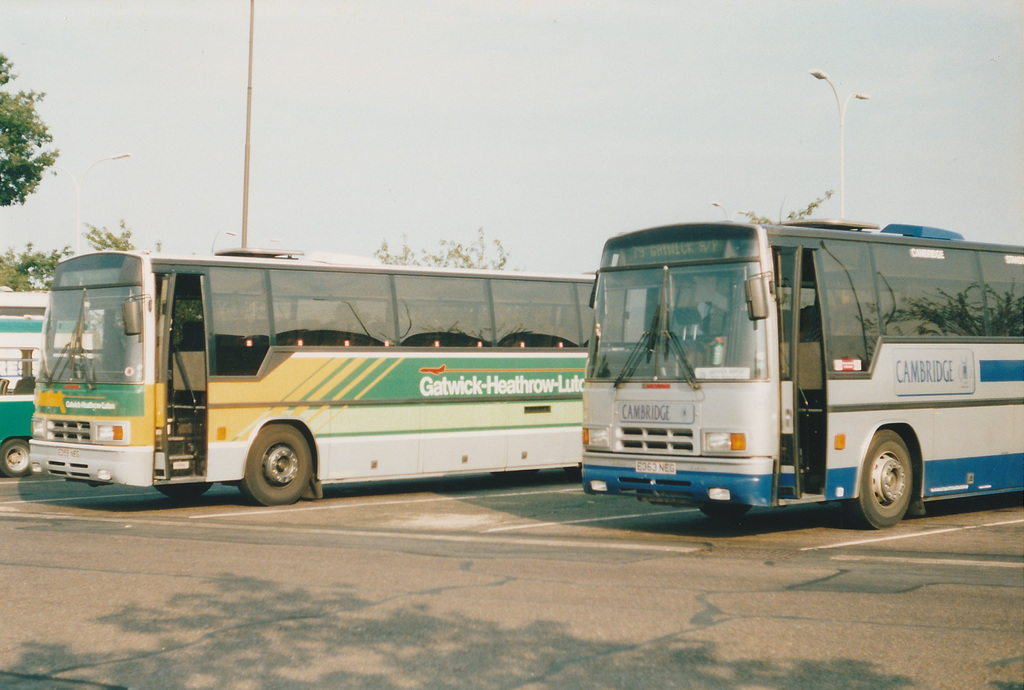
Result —
<path fill-rule="evenodd" d="M 0 206 L 25 204 L 60 153 L 44 148 L 53 137 L 39 119 L 36 103 L 46 94 L 3 90 L 15 78 L 10 69 L 10 60 L 0 54 Z"/>

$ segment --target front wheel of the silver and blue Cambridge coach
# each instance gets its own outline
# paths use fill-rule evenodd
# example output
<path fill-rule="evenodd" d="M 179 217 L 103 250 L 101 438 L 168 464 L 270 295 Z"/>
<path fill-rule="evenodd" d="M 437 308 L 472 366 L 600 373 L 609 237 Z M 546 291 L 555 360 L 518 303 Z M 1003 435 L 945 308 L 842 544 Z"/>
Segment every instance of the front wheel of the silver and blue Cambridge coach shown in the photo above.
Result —
<path fill-rule="evenodd" d="M 913 467 L 906 443 L 894 431 L 871 439 L 860 468 L 860 495 L 844 504 L 863 527 L 883 529 L 903 519 L 913 493 Z"/>

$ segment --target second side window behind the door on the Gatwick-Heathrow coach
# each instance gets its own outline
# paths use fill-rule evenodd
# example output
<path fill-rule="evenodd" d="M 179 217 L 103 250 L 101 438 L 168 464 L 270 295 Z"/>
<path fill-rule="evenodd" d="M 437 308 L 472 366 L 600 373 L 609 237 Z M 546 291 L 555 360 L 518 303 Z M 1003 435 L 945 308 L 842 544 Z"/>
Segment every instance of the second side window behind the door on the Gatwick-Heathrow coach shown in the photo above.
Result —
<path fill-rule="evenodd" d="M 394 345 L 387 275 L 272 270 L 270 290 L 276 345 Z"/>

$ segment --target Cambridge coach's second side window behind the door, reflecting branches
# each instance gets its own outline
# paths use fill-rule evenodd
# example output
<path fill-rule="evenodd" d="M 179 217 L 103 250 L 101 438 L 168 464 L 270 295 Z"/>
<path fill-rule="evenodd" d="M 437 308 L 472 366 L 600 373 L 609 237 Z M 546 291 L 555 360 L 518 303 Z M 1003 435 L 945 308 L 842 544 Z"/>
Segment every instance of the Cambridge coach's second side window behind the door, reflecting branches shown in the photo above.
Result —
<path fill-rule="evenodd" d="M 879 245 L 874 268 L 885 335 L 985 335 L 973 252 Z"/>

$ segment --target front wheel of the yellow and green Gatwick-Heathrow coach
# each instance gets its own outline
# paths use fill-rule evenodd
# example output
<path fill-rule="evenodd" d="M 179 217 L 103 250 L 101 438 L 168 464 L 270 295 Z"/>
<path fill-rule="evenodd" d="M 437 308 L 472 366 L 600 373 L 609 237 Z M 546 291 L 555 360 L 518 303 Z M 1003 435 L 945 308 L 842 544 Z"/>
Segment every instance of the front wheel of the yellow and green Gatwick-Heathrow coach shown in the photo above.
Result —
<path fill-rule="evenodd" d="M 287 506 L 299 500 L 311 474 L 305 437 L 294 427 L 270 426 L 256 436 L 239 488 L 260 505 Z"/>

